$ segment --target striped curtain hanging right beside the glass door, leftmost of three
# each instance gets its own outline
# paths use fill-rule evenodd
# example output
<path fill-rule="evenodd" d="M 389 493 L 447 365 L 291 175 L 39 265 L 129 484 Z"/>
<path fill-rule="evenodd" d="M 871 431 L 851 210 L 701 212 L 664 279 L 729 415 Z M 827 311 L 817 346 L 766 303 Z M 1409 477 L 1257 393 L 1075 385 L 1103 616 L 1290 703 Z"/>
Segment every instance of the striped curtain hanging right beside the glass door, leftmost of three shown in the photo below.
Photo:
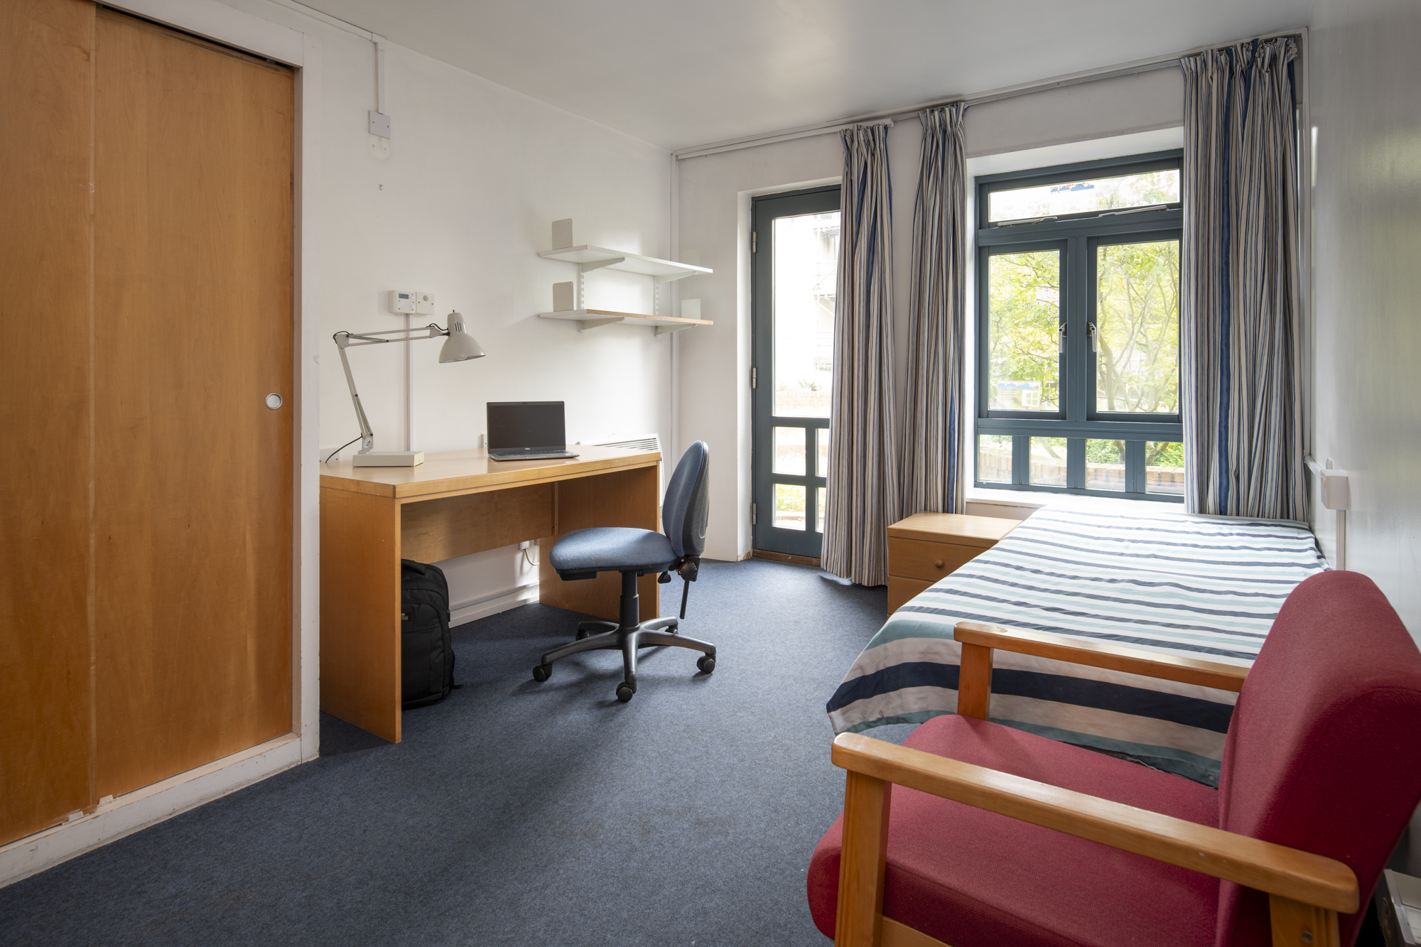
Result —
<path fill-rule="evenodd" d="M 888 582 L 888 525 L 901 509 L 892 404 L 892 185 L 888 128 L 854 125 L 844 183 L 834 301 L 826 570 L 863 586 Z"/>

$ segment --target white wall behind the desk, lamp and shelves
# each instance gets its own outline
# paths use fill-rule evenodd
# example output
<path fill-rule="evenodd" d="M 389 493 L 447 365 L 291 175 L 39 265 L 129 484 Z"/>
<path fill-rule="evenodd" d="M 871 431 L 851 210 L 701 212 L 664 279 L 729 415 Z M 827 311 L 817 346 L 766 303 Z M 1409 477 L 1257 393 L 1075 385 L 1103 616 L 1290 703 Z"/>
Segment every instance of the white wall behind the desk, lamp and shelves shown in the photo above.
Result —
<path fill-rule="evenodd" d="M 232 6 L 315 33 L 324 44 L 325 452 L 358 434 L 330 336 L 404 326 L 387 311 L 391 289 L 432 291 L 441 324 L 450 309 L 462 311 L 487 357 L 441 365 L 439 341 L 416 341 L 406 375 L 404 344 L 350 350 L 377 449 L 477 446 L 486 401 L 566 401 L 570 441 L 652 431 L 665 441 L 666 337 L 624 326 L 580 334 L 576 323 L 536 313 L 553 307 L 553 283 L 576 273 L 537 256 L 551 249 L 556 219 L 573 218 L 578 243 L 668 255 L 666 152 L 388 43 L 392 139 L 389 156 L 377 161 L 365 127 L 375 107 L 372 44 L 269 0 Z M 593 306 L 649 311 L 647 277 L 600 270 L 587 286 Z M 537 594 L 537 570 L 513 547 L 443 565 L 455 620 Z"/>

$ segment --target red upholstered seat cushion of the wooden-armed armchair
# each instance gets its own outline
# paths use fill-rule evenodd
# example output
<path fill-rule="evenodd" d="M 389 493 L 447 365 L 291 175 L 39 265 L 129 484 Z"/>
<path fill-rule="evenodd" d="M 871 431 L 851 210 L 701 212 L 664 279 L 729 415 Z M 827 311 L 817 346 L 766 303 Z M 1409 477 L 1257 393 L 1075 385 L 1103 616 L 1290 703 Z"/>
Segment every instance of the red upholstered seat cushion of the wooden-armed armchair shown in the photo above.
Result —
<path fill-rule="evenodd" d="M 1191 822 L 1218 825 L 1218 793 L 1171 774 L 971 717 L 904 742 Z M 833 937 L 843 816 L 814 849 L 809 901 Z M 892 788 L 884 914 L 952 947 L 1214 944 L 1219 882 L 995 812 Z"/>

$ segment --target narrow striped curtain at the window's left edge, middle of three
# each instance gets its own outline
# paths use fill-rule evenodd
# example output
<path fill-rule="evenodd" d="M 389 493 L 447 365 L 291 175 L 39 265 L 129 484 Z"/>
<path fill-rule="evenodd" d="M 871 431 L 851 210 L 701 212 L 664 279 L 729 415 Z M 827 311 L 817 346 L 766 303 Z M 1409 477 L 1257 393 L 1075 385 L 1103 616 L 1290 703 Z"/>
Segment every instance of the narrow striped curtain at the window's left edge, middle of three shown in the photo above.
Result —
<path fill-rule="evenodd" d="M 922 149 L 912 210 L 904 516 L 962 512 L 965 111 L 965 102 L 953 102 L 918 114 Z"/>

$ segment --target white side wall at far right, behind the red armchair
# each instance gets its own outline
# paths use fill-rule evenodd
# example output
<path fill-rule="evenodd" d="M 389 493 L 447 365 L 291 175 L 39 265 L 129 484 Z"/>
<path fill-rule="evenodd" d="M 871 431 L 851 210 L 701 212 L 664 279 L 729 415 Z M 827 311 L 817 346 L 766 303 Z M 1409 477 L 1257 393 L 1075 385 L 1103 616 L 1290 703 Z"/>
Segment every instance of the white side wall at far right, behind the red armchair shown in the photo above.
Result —
<path fill-rule="evenodd" d="M 1350 472 L 1349 569 L 1376 580 L 1421 638 L 1418 36 L 1414 3 L 1320 0 L 1309 80 L 1313 454 Z M 1330 535 L 1331 512 L 1313 516 Z"/>

